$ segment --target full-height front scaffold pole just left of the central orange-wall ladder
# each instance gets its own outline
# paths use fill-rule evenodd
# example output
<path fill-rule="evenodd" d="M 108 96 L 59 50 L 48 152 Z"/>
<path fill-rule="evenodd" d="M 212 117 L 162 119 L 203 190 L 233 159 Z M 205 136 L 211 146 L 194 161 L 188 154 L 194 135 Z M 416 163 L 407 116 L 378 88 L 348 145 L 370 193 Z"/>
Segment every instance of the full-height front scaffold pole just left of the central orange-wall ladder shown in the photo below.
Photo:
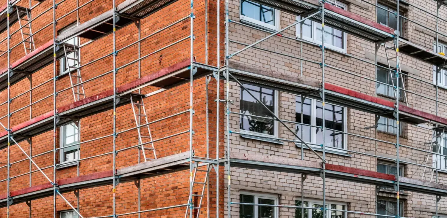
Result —
<path fill-rule="evenodd" d="M 116 68 L 116 7 L 115 7 L 115 0 L 112 0 L 112 7 L 113 7 L 113 189 L 112 189 L 112 197 L 113 197 L 113 217 L 116 217 L 116 74 L 117 68 Z"/>

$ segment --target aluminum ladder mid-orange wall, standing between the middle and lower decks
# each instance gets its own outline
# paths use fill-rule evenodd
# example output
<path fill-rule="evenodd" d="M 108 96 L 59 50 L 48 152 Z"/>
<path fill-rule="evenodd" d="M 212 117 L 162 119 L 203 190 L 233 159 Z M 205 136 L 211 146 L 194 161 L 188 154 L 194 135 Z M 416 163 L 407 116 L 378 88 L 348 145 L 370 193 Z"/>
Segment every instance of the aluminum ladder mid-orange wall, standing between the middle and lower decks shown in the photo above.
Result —
<path fill-rule="evenodd" d="M 135 98 L 137 98 L 137 99 L 135 99 Z M 140 144 L 140 146 L 138 148 L 143 153 L 144 162 L 147 162 L 148 160 L 157 159 L 157 154 L 155 151 L 154 143 L 152 142 L 151 128 L 149 127 L 149 124 L 148 124 L 149 123 L 148 115 L 146 114 L 146 108 L 144 107 L 143 96 L 135 97 L 135 96 L 131 95 L 131 106 L 132 106 L 132 111 L 134 113 L 135 124 L 136 124 L 137 132 L 138 132 L 138 143 Z M 143 112 L 143 113 L 141 113 L 141 112 Z M 142 118 L 144 121 L 143 124 L 141 124 Z M 144 127 L 148 129 L 148 132 L 146 134 L 142 133 L 143 132 L 142 128 L 144 128 Z M 148 144 L 151 144 L 151 145 L 149 147 L 145 146 Z M 149 158 L 148 154 L 146 154 L 146 151 L 151 151 L 151 150 L 153 152 L 154 158 Z"/>

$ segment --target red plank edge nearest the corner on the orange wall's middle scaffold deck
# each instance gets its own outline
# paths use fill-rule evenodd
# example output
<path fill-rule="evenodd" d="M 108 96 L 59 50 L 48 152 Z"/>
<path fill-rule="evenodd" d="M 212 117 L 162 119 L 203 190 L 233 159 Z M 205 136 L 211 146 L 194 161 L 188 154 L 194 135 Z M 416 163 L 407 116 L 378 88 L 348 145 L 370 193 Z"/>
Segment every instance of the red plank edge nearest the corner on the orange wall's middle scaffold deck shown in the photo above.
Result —
<path fill-rule="evenodd" d="M 162 77 L 162 76 L 164 76 L 166 74 L 170 74 L 170 73 L 175 72 L 177 70 L 181 70 L 182 68 L 190 66 L 190 64 L 191 64 L 191 62 L 190 62 L 189 58 L 183 59 L 181 62 L 173 64 L 173 65 L 171 65 L 169 67 L 163 68 L 163 69 L 161 69 L 161 70 L 159 70 L 159 71 L 157 71 L 157 72 L 155 72 L 153 74 L 149 74 L 147 76 L 143 76 L 142 78 L 139 78 L 139 79 L 137 79 L 137 80 L 135 80 L 133 82 L 129 82 L 127 84 L 119 86 L 116 90 L 117 90 L 118 93 L 130 90 L 130 89 L 135 88 L 135 87 L 137 87 L 139 85 L 142 85 L 144 83 L 151 82 L 152 80 L 160 78 L 160 77 Z"/>

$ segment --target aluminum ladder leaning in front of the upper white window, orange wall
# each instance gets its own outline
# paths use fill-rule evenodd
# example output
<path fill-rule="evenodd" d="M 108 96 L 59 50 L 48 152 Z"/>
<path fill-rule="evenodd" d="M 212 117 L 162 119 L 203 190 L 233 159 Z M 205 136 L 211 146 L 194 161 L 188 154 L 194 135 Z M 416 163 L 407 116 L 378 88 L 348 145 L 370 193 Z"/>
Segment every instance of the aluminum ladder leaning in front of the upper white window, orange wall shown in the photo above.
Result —
<path fill-rule="evenodd" d="M 65 66 L 68 68 L 68 76 L 72 87 L 73 98 L 75 101 L 85 98 L 84 84 L 82 83 L 79 48 L 76 45 L 68 45 L 63 43 L 63 53 L 65 55 Z M 73 46 L 73 52 L 67 54 L 67 47 Z M 71 54 L 73 54 L 71 56 Z"/>

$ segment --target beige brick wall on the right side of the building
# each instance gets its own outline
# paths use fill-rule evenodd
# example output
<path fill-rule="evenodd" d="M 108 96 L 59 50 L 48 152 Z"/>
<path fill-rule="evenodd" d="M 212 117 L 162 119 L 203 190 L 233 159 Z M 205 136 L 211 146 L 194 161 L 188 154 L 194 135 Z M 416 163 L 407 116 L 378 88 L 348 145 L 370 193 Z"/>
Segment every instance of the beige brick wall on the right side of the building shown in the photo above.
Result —
<path fill-rule="evenodd" d="M 338 0 L 337 0 L 338 2 Z M 342 1 L 343 2 L 343 1 Z M 375 1 L 370 1 L 375 4 Z M 371 4 L 349 4 L 350 2 L 344 2 L 348 4 L 348 11 L 364 16 L 372 21 L 375 21 L 375 7 Z M 239 19 L 239 0 L 229 1 L 229 18 L 234 21 L 240 21 Z M 434 1 L 422 1 L 415 0 L 411 4 L 420 5 L 425 10 L 436 13 L 436 5 Z M 403 7 L 405 10 L 405 16 L 409 19 L 417 21 L 426 27 L 435 29 L 436 21 L 434 17 L 427 16 L 426 13 L 413 7 Z M 445 7 L 441 7 L 440 14 L 445 14 Z M 292 24 L 295 21 L 295 16 L 286 12 L 280 12 L 280 28 L 284 28 L 287 25 Z M 439 29 L 445 29 L 445 23 L 440 24 Z M 229 40 L 239 41 L 246 44 L 252 44 L 253 42 L 268 36 L 270 33 L 265 33 L 255 29 L 242 27 L 234 23 L 229 25 Z M 422 31 L 423 30 L 423 31 Z M 287 29 L 283 32 L 284 35 L 289 37 L 295 37 L 295 27 Z M 405 22 L 405 37 L 421 45 L 427 49 L 433 49 L 433 43 L 435 38 L 434 33 L 427 34 L 423 27 L 413 24 L 410 21 Z M 388 43 L 388 46 L 391 45 Z M 257 46 L 273 50 L 275 52 L 300 57 L 300 44 L 298 41 L 289 40 L 282 37 L 272 37 Z M 229 44 L 229 53 L 234 53 L 244 46 L 236 43 Z M 375 53 L 374 44 L 354 37 L 348 34 L 347 37 L 347 54 L 353 55 L 358 58 L 367 59 L 368 53 Z M 378 56 L 385 58 L 384 48 L 381 47 L 378 51 Z M 392 52 L 388 52 L 388 56 L 392 56 Z M 304 43 L 303 58 L 308 60 L 321 62 L 321 49 L 314 45 L 308 45 Z M 401 55 L 401 65 L 405 66 L 405 69 L 409 69 L 412 76 L 421 78 L 427 82 L 433 82 L 433 66 L 410 58 L 405 55 Z M 374 58 L 367 59 L 369 62 L 374 62 Z M 232 61 L 242 62 L 244 64 L 255 65 L 258 67 L 267 68 L 270 70 L 278 71 L 283 74 L 290 74 L 299 76 L 301 73 L 300 61 L 296 58 L 285 57 L 276 53 L 270 53 L 259 49 L 247 49 L 246 51 L 232 57 Z M 342 70 L 347 70 L 363 77 L 375 79 L 375 66 L 350 58 L 347 55 L 340 53 L 334 53 L 326 50 L 325 63 L 328 65 L 336 66 Z M 404 68 L 404 67 L 403 67 Z M 375 82 L 370 80 L 359 78 L 354 75 L 346 74 L 341 71 L 325 68 L 325 81 L 337 86 L 356 90 L 367 95 L 375 96 Z M 303 76 L 305 78 L 314 78 L 321 80 L 320 66 L 315 63 L 303 62 Z M 436 89 L 432 84 L 422 83 L 413 78 L 407 78 L 405 81 L 405 88 L 422 94 L 431 99 L 436 98 Z M 439 89 L 439 100 L 446 101 L 447 91 Z M 295 96 L 279 92 L 279 105 L 278 116 L 280 119 L 287 119 L 295 121 Z M 411 93 L 407 93 L 408 105 L 418 110 L 426 111 L 431 114 L 435 114 L 436 104 L 433 100 L 420 97 Z M 231 82 L 229 86 L 230 100 L 234 103 L 230 105 L 232 111 L 239 112 L 240 109 L 240 87 Z M 439 104 L 438 115 L 447 117 L 443 104 Z M 240 117 L 239 115 L 230 114 L 230 126 L 229 129 L 238 132 L 240 129 Z M 386 140 L 392 143 L 396 143 L 396 136 L 393 136 L 384 132 L 375 132 L 374 129 L 365 130 L 365 127 L 374 125 L 375 117 L 372 114 L 365 113 L 363 111 L 357 111 L 354 109 L 347 110 L 347 132 L 358 134 L 360 136 L 366 136 L 379 140 Z M 278 137 L 294 140 L 295 137 L 287 131 L 286 128 L 278 125 Z M 293 124 L 287 124 L 290 128 L 294 129 Z M 429 147 L 424 144 L 431 141 L 432 131 L 429 125 L 413 126 L 405 124 L 404 137 L 401 137 L 400 144 L 413 146 L 428 150 Z M 228 139 L 227 139 L 228 140 Z M 249 140 L 240 137 L 237 134 L 231 134 L 229 136 L 229 142 L 232 152 L 269 155 L 269 156 L 283 156 L 291 158 L 301 157 L 301 148 L 296 147 L 295 143 L 284 142 L 284 145 L 267 143 L 259 140 Z M 375 143 L 375 141 L 362 139 L 359 137 L 348 136 L 346 149 L 365 152 L 368 154 L 376 154 L 379 156 L 385 156 L 388 158 L 396 158 L 396 148 L 393 144 Z M 321 152 L 320 152 L 321 154 Z M 412 150 L 409 148 L 400 148 L 400 159 L 410 163 L 424 164 L 426 153 Z M 377 158 L 371 156 L 365 156 L 350 152 L 350 156 L 341 156 L 337 154 L 328 153 L 326 156 L 328 163 L 337 164 L 349 167 L 355 167 L 359 169 L 376 170 Z M 309 150 L 304 150 L 304 160 L 320 161 Z M 301 176 L 293 173 L 278 173 L 263 170 L 251 170 L 231 168 L 231 201 L 239 202 L 240 191 L 257 191 L 265 193 L 278 194 L 279 203 L 282 205 L 294 205 L 295 199 L 300 199 L 301 196 Z M 405 165 L 405 176 L 416 179 L 422 178 L 423 167 L 417 165 Z M 447 174 L 439 173 L 439 182 L 447 183 Z M 317 176 L 308 176 L 304 182 L 304 196 L 307 198 L 322 199 L 323 187 L 322 179 Z M 363 185 L 354 182 L 339 181 L 339 180 L 326 180 L 325 187 L 326 196 L 329 200 L 340 201 L 347 203 L 347 210 L 362 211 L 366 213 L 376 212 L 376 189 L 373 185 Z M 226 190 L 228 194 L 228 190 Z M 383 197 L 390 197 L 390 199 L 396 199 L 394 194 L 380 193 Z M 401 199 L 405 200 L 405 217 L 418 217 L 418 218 L 431 218 L 432 213 L 435 211 L 435 197 L 431 195 L 425 195 L 420 193 L 406 192 L 401 195 Z M 225 198 L 227 202 L 227 198 Z M 232 205 L 232 215 L 239 215 L 239 206 Z M 439 213 L 447 214 L 446 200 L 444 198 L 439 202 Z M 281 208 L 279 209 L 279 216 L 281 218 L 294 217 L 295 209 Z M 348 214 L 348 217 L 374 217 L 360 214 Z"/>

